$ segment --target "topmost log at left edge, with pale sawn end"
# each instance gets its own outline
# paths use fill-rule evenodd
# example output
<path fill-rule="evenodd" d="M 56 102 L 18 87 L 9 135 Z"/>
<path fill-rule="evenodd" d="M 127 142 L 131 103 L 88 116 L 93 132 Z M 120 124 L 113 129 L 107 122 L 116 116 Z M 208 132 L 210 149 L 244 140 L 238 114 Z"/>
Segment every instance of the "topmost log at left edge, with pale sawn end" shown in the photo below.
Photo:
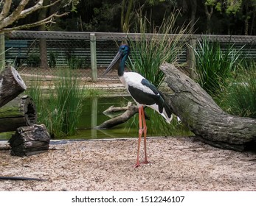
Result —
<path fill-rule="evenodd" d="M 12 66 L 5 68 L 0 73 L 0 107 L 10 102 L 27 89 L 18 71 Z"/>

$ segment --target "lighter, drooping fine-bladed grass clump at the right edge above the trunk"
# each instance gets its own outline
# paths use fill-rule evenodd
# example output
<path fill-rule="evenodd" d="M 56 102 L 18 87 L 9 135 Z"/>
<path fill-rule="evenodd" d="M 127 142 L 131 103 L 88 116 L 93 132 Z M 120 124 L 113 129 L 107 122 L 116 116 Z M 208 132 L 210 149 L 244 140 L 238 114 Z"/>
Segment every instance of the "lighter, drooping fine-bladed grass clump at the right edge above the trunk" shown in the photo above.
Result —
<path fill-rule="evenodd" d="M 256 118 L 256 63 L 243 61 L 221 94 L 221 107 L 236 116 Z"/>

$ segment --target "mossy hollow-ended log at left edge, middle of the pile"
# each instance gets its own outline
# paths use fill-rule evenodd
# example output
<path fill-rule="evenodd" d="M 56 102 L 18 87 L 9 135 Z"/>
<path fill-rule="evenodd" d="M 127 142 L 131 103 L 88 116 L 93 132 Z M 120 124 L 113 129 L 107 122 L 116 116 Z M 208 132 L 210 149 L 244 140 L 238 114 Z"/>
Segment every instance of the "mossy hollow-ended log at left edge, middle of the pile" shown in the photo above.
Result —
<path fill-rule="evenodd" d="M 37 112 L 30 96 L 18 96 L 0 107 L 0 132 L 15 131 L 18 127 L 36 123 Z"/>

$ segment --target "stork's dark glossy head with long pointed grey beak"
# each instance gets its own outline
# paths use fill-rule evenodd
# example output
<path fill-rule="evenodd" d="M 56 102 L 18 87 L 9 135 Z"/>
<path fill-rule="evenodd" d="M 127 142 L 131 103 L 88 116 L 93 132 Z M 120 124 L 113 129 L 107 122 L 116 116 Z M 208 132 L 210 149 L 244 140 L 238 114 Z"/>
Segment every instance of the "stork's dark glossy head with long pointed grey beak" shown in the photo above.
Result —
<path fill-rule="evenodd" d="M 120 60 L 125 61 L 128 58 L 129 54 L 130 54 L 130 47 L 127 44 L 122 44 L 117 52 L 117 55 L 114 57 L 110 65 L 108 65 L 108 68 L 103 73 L 103 76 L 107 74 L 108 71 L 111 71 L 111 68 L 114 68 L 114 65 L 117 65 L 117 63 L 119 63 Z"/>

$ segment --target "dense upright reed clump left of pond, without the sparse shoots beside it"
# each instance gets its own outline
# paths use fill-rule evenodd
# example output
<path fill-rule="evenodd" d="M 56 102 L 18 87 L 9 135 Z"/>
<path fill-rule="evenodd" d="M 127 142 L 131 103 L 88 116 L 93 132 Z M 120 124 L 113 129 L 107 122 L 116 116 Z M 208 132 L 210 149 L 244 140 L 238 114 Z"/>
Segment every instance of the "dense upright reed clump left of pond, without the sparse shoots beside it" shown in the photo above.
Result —
<path fill-rule="evenodd" d="M 75 135 L 82 110 L 83 89 L 70 69 L 63 69 L 55 83 L 52 107 L 52 132 L 57 136 Z"/>

